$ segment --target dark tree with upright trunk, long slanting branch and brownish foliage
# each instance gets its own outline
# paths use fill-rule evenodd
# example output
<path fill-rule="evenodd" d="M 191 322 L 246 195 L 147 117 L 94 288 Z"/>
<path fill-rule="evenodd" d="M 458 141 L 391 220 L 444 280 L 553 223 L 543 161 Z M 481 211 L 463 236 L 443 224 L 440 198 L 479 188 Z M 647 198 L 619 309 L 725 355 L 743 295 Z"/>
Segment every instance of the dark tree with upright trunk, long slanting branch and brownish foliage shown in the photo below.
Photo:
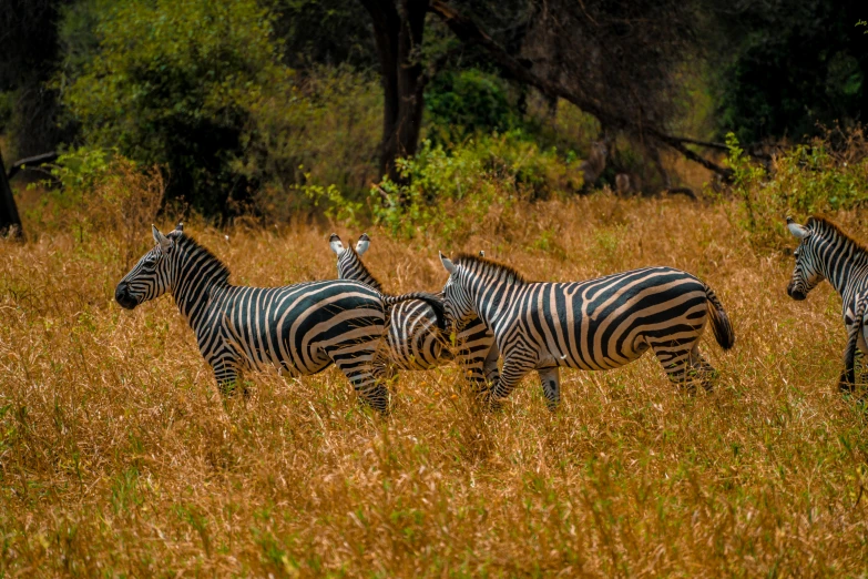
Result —
<path fill-rule="evenodd" d="M 395 160 L 416 152 L 425 87 L 456 52 L 422 50 L 426 11 L 439 17 L 459 48 L 499 68 L 506 79 L 554 101 L 564 99 L 595 116 L 606 131 L 625 133 L 649 148 L 666 184 L 661 146 L 728 174 L 687 146 L 695 142 L 667 131 L 680 111 L 678 68 L 695 55 L 694 0 L 519 0 L 499 17 L 490 16 L 491 7 L 482 0 L 457 0 L 467 11 L 443 0 L 361 3 L 374 22 L 386 95 L 380 172 L 394 181 L 399 176 Z M 486 18 L 504 20 L 504 14 L 514 20 L 499 27 L 500 39 L 494 38 L 486 31 Z"/>

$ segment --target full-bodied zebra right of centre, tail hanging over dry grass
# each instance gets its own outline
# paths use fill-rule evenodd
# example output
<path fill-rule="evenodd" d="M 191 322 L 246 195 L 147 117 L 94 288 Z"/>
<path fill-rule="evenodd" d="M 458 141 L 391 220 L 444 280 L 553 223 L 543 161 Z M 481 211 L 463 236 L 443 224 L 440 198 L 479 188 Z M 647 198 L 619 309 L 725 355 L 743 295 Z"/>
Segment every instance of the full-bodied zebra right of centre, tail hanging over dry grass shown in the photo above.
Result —
<path fill-rule="evenodd" d="M 530 283 L 513 268 L 472 255 L 440 254 L 449 322 L 476 314 L 503 356 L 490 403 L 498 406 L 532 369 L 551 409 L 560 403 L 559 366 L 610 369 L 654 352 L 670 379 L 711 390 L 714 368 L 698 343 L 711 319 L 724 349 L 735 335 L 714 292 L 672 267 L 646 267 L 575 283 Z"/>

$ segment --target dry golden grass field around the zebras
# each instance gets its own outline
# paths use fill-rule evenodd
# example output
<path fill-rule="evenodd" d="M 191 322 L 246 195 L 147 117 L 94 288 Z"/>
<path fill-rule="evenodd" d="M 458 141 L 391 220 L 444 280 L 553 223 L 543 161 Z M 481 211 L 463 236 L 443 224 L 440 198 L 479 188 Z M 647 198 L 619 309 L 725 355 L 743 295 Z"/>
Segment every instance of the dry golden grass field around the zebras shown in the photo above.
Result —
<path fill-rule="evenodd" d="M 438 248 L 537 280 L 672 265 L 736 332 L 726 354 L 703 339 L 712 395 L 647 355 L 563 372 L 555 414 L 535 377 L 482 414 L 447 366 L 401 375 L 385 420 L 334 368 L 249 376 L 224 404 L 170 297 L 113 302 L 122 235 L 31 228 L 0 246 L 0 575 L 864 577 L 868 416 L 836 389 L 840 301 L 789 299 L 792 257 L 752 248 L 732 209 L 539 203 L 461 246 L 368 230 L 391 292 L 440 288 Z M 865 240 L 865 216 L 836 219 Z M 185 230 L 237 284 L 335 275 L 328 225 Z"/>

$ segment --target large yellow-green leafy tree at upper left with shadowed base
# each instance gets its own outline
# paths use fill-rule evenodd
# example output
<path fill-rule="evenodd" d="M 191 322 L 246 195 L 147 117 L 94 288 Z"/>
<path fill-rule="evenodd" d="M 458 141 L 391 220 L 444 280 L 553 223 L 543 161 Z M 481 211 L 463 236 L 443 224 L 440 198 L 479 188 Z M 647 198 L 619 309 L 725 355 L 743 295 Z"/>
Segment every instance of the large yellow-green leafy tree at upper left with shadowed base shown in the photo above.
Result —
<path fill-rule="evenodd" d="M 246 194 L 229 164 L 243 154 L 249 111 L 288 84 L 274 17 L 255 0 L 94 6 L 99 50 L 70 70 L 63 91 L 85 141 L 167 165 L 171 194 L 225 212 Z"/>

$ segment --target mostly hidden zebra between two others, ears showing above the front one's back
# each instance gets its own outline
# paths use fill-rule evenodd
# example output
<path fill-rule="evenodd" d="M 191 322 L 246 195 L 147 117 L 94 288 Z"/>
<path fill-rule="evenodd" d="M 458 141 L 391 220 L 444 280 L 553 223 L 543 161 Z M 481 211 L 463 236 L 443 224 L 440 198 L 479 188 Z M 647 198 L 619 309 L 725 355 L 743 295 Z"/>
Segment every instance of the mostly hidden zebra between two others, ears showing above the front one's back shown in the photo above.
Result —
<path fill-rule="evenodd" d="M 370 246 L 367 233 L 361 234 L 355 248 L 344 247 L 340 237 L 334 233 L 328 245 L 337 255 L 339 278 L 355 280 L 382 292 L 380 283 L 361 261 Z M 388 358 L 392 368 L 426 370 L 452 359 L 448 349 L 449 337 L 437 327 L 436 321 L 433 309 L 426 302 L 401 302 L 392 308 L 386 325 Z M 478 317 L 469 319 L 456 335 L 459 366 L 467 379 L 480 390 L 498 379 L 498 352 L 492 348 L 493 344 L 494 335 Z"/>

